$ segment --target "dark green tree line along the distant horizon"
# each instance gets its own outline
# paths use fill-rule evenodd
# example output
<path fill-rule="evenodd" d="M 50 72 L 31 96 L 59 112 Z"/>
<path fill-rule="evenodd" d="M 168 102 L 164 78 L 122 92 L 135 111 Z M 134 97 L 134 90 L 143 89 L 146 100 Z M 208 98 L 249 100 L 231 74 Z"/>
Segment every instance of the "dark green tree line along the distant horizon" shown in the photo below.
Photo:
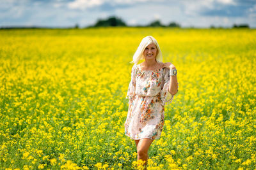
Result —
<path fill-rule="evenodd" d="M 106 19 L 98 19 L 97 22 L 93 25 L 89 25 L 88 27 L 177 27 L 180 28 L 180 24 L 177 22 L 170 22 L 168 25 L 164 25 L 161 23 L 160 20 L 154 20 L 147 25 L 127 25 L 125 24 L 124 20 L 121 18 L 112 16 Z M 56 28 L 56 27 L 55 27 Z M 76 24 L 74 27 L 66 27 L 65 29 L 79 29 L 79 24 Z M 191 28 L 195 28 L 191 26 Z M 215 28 L 223 28 L 223 27 L 216 27 L 214 25 L 210 26 L 211 29 Z M 232 28 L 250 28 L 248 24 L 234 24 Z M 0 29 L 54 29 L 54 27 L 1 27 Z"/>

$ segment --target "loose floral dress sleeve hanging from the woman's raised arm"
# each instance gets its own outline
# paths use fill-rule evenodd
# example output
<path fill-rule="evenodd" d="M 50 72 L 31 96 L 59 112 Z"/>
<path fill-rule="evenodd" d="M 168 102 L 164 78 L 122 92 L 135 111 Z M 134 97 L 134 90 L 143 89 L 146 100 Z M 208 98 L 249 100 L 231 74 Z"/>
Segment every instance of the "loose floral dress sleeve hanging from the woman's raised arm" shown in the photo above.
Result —
<path fill-rule="evenodd" d="M 172 103 L 173 101 L 173 95 L 170 94 L 168 91 L 170 85 L 170 74 L 169 74 L 169 69 L 166 69 L 164 71 L 164 85 L 163 88 L 161 89 L 161 100 L 163 101 L 163 106 L 166 103 Z M 179 85 L 178 85 L 179 88 Z"/>

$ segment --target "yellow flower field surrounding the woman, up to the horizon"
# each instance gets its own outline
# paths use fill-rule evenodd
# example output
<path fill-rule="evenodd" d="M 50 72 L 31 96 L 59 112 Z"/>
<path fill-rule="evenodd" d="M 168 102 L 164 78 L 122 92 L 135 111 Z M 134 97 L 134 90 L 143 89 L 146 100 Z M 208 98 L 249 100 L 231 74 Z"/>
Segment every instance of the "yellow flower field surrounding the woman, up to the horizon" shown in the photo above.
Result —
<path fill-rule="evenodd" d="M 0 30 L 0 169 L 140 169 L 125 96 L 148 35 L 179 81 L 148 169 L 254 169 L 256 31 L 122 27 Z"/>

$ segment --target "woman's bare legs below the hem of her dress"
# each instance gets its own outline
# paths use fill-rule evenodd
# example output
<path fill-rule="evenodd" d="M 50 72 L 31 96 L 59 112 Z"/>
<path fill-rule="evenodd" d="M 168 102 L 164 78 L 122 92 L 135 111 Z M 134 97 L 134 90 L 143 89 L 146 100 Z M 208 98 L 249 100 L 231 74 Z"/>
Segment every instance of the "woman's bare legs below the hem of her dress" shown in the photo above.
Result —
<path fill-rule="evenodd" d="M 145 160 L 145 164 L 144 164 L 145 166 L 147 166 L 148 149 L 152 142 L 153 140 L 148 138 L 135 140 L 135 143 L 137 146 L 138 160 L 139 159 Z"/>

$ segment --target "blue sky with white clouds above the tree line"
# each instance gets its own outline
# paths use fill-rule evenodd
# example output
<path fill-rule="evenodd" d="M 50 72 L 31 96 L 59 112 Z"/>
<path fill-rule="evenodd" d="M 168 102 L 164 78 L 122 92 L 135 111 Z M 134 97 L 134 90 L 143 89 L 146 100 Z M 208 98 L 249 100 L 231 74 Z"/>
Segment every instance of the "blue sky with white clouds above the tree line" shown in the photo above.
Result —
<path fill-rule="evenodd" d="M 0 0 L 0 27 L 80 27 L 115 15 L 128 25 L 178 22 L 182 27 L 256 28 L 256 0 Z"/>

